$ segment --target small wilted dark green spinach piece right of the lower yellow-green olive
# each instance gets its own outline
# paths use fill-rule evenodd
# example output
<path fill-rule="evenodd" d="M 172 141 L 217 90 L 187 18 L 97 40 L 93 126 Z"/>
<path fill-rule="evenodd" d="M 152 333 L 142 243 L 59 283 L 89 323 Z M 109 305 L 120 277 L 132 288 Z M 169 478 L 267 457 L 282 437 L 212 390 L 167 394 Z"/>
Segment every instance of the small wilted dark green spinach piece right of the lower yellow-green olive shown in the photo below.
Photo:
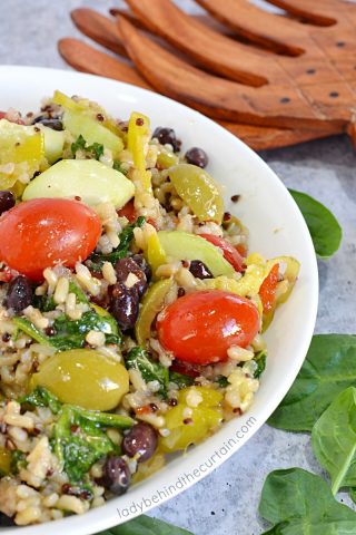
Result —
<path fill-rule="evenodd" d="M 167 389 L 169 383 L 169 371 L 159 362 L 155 362 L 148 356 L 148 352 L 139 347 L 130 349 L 126 358 L 127 368 L 134 368 L 141 372 L 146 382 L 158 381 L 160 393 L 164 398 L 167 397 Z"/>

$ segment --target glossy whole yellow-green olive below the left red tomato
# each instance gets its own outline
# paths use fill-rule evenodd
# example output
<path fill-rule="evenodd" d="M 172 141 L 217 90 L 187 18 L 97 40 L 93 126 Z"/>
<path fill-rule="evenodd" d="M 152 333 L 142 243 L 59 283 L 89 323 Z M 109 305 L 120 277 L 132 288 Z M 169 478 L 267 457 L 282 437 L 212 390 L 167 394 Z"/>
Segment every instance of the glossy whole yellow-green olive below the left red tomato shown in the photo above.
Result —
<path fill-rule="evenodd" d="M 127 369 L 93 349 L 72 349 L 46 360 L 30 388 L 47 387 L 65 403 L 86 409 L 115 409 L 129 390 Z"/>

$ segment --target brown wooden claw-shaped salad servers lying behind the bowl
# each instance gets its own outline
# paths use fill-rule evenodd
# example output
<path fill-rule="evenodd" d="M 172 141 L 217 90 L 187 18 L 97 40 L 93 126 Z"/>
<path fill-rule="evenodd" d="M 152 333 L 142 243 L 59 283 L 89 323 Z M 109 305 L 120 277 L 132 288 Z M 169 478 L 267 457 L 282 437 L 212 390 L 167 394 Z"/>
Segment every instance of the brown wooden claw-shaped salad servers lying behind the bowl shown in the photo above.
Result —
<path fill-rule="evenodd" d="M 131 12 L 116 10 L 117 23 L 86 9 L 72 18 L 131 64 L 73 39 L 61 40 L 59 50 L 79 70 L 150 87 L 201 110 L 253 148 L 355 136 L 356 6 L 270 0 L 287 18 L 246 0 L 197 2 L 229 29 L 189 17 L 170 0 L 127 0 Z"/>

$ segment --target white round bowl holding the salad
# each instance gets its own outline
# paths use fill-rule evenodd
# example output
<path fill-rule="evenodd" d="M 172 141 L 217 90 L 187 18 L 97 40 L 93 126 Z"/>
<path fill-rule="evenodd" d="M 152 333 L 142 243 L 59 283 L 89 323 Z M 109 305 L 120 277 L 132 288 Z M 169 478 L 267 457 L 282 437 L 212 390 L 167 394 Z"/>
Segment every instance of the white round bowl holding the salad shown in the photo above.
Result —
<path fill-rule="evenodd" d="M 188 488 L 244 446 L 267 420 L 297 376 L 313 335 L 318 301 L 315 252 L 299 210 L 275 173 L 244 143 L 197 111 L 145 89 L 71 71 L 1 66 L 0 79 L 0 109 L 36 110 L 43 96 L 60 89 L 97 100 L 117 117 L 127 118 L 136 109 L 150 117 L 152 127 L 175 128 L 182 149 L 198 146 L 208 153 L 208 171 L 225 186 L 226 210 L 250 231 L 250 251 L 268 257 L 293 255 L 301 263 L 290 299 L 277 311 L 265 335 L 267 369 L 247 414 L 188 454 L 177 456 L 125 496 L 83 516 L 69 516 L 50 526 L 0 529 L 1 535 L 92 534 L 146 513 Z M 241 195 L 237 204 L 230 202 L 234 194 Z"/>

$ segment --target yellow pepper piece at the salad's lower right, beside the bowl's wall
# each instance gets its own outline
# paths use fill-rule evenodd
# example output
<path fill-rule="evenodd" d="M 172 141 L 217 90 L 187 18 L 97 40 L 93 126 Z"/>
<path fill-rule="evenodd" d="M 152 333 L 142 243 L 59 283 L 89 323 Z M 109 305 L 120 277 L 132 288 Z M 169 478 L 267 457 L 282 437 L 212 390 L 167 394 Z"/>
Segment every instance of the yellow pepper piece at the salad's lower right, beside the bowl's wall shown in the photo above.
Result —
<path fill-rule="evenodd" d="M 190 421 L 187 422 L 186 408 L 187 396 L 192 390 L 202 397 L 201 403 L 191 408 Z M 172 453 L 179 449 L 187 449 L 190 444 L 197 444 L 209 436 L 209 434 L 221 424 L 222 395 L 206 387 L 188 387 L 180 390 L 178 405 L 166 414 L 165 427 L 170 434 L 160 437 L 159 450 Z"/>

